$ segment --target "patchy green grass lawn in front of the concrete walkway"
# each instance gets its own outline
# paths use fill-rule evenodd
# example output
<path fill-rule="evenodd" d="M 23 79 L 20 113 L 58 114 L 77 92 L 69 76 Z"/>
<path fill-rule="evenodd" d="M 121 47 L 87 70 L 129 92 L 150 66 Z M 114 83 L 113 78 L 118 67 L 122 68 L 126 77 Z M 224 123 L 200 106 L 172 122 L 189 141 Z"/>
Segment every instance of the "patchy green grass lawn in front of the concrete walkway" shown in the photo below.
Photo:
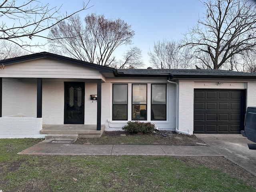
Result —
<path fill-rule="evenodd" d="M 17 155 L 40 139 L 0 139 L 2 192 L 255 192 L 239 178 L 168 156 Z M 86 145 L 85 145 L 86 147 Z"/>

